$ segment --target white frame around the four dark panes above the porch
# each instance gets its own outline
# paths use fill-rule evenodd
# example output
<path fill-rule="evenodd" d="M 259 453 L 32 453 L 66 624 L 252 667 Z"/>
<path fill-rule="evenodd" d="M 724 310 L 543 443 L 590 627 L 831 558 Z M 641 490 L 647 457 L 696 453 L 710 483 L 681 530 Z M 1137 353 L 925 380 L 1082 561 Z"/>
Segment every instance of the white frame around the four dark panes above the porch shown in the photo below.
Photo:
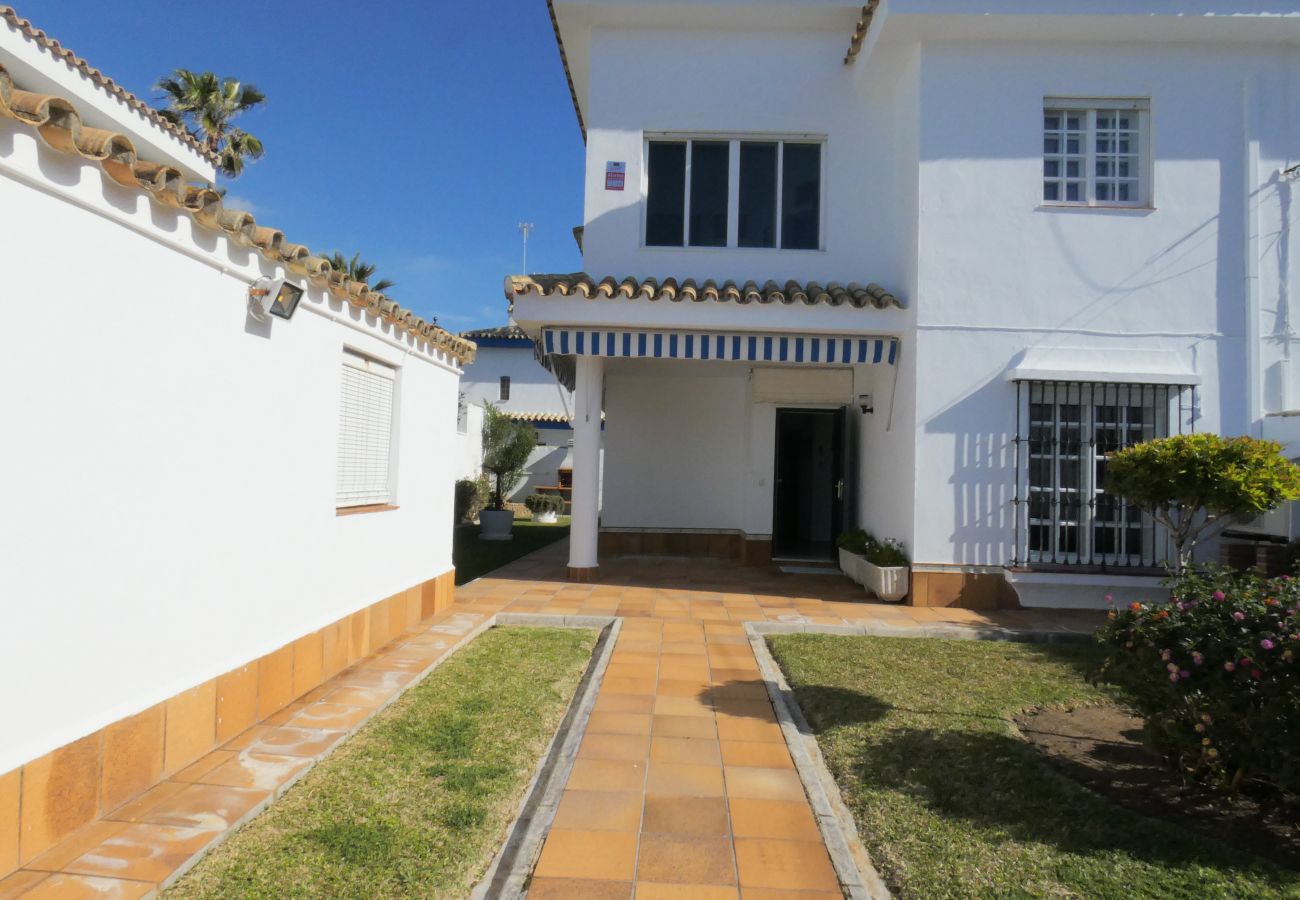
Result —
<path fill-rule="evenodd" d="M 646 220 L 650 212 L 650 144 L 653 142 L 671 140 L 686 144 L 686 177 L 684 179 L 685 196 L 682 198 L 682 222 L 680 245 L 651 245 L 646 243 Z M 701 142 L 728 142 L 727 156 L 727 243 L 722 247 L 696 247 L 690 243 L 690 146 L 696 140 Z M 740 246 L 740 146 L 741 143 L 775 143 L 776 144 L 776 246 L 774 247 L 741 247 Z M 818 157 L 818 225 L 816 247 L 785 248 L 781 247 L 781 213 L 784 198 L 785 177 L 785 144 L 816 144 L 820 148 Z M 692 251 L 719 251 L 741 250 L 757 252 L 784 252 L 784 254 L 816 254 L 826 251 L 826 182 L 827 182 L 827 138 L 824 134 L 746 134 L 736 131 L 646 131 L 641 140 L 641 248 L 642 250 L 692 250 Z"/>

